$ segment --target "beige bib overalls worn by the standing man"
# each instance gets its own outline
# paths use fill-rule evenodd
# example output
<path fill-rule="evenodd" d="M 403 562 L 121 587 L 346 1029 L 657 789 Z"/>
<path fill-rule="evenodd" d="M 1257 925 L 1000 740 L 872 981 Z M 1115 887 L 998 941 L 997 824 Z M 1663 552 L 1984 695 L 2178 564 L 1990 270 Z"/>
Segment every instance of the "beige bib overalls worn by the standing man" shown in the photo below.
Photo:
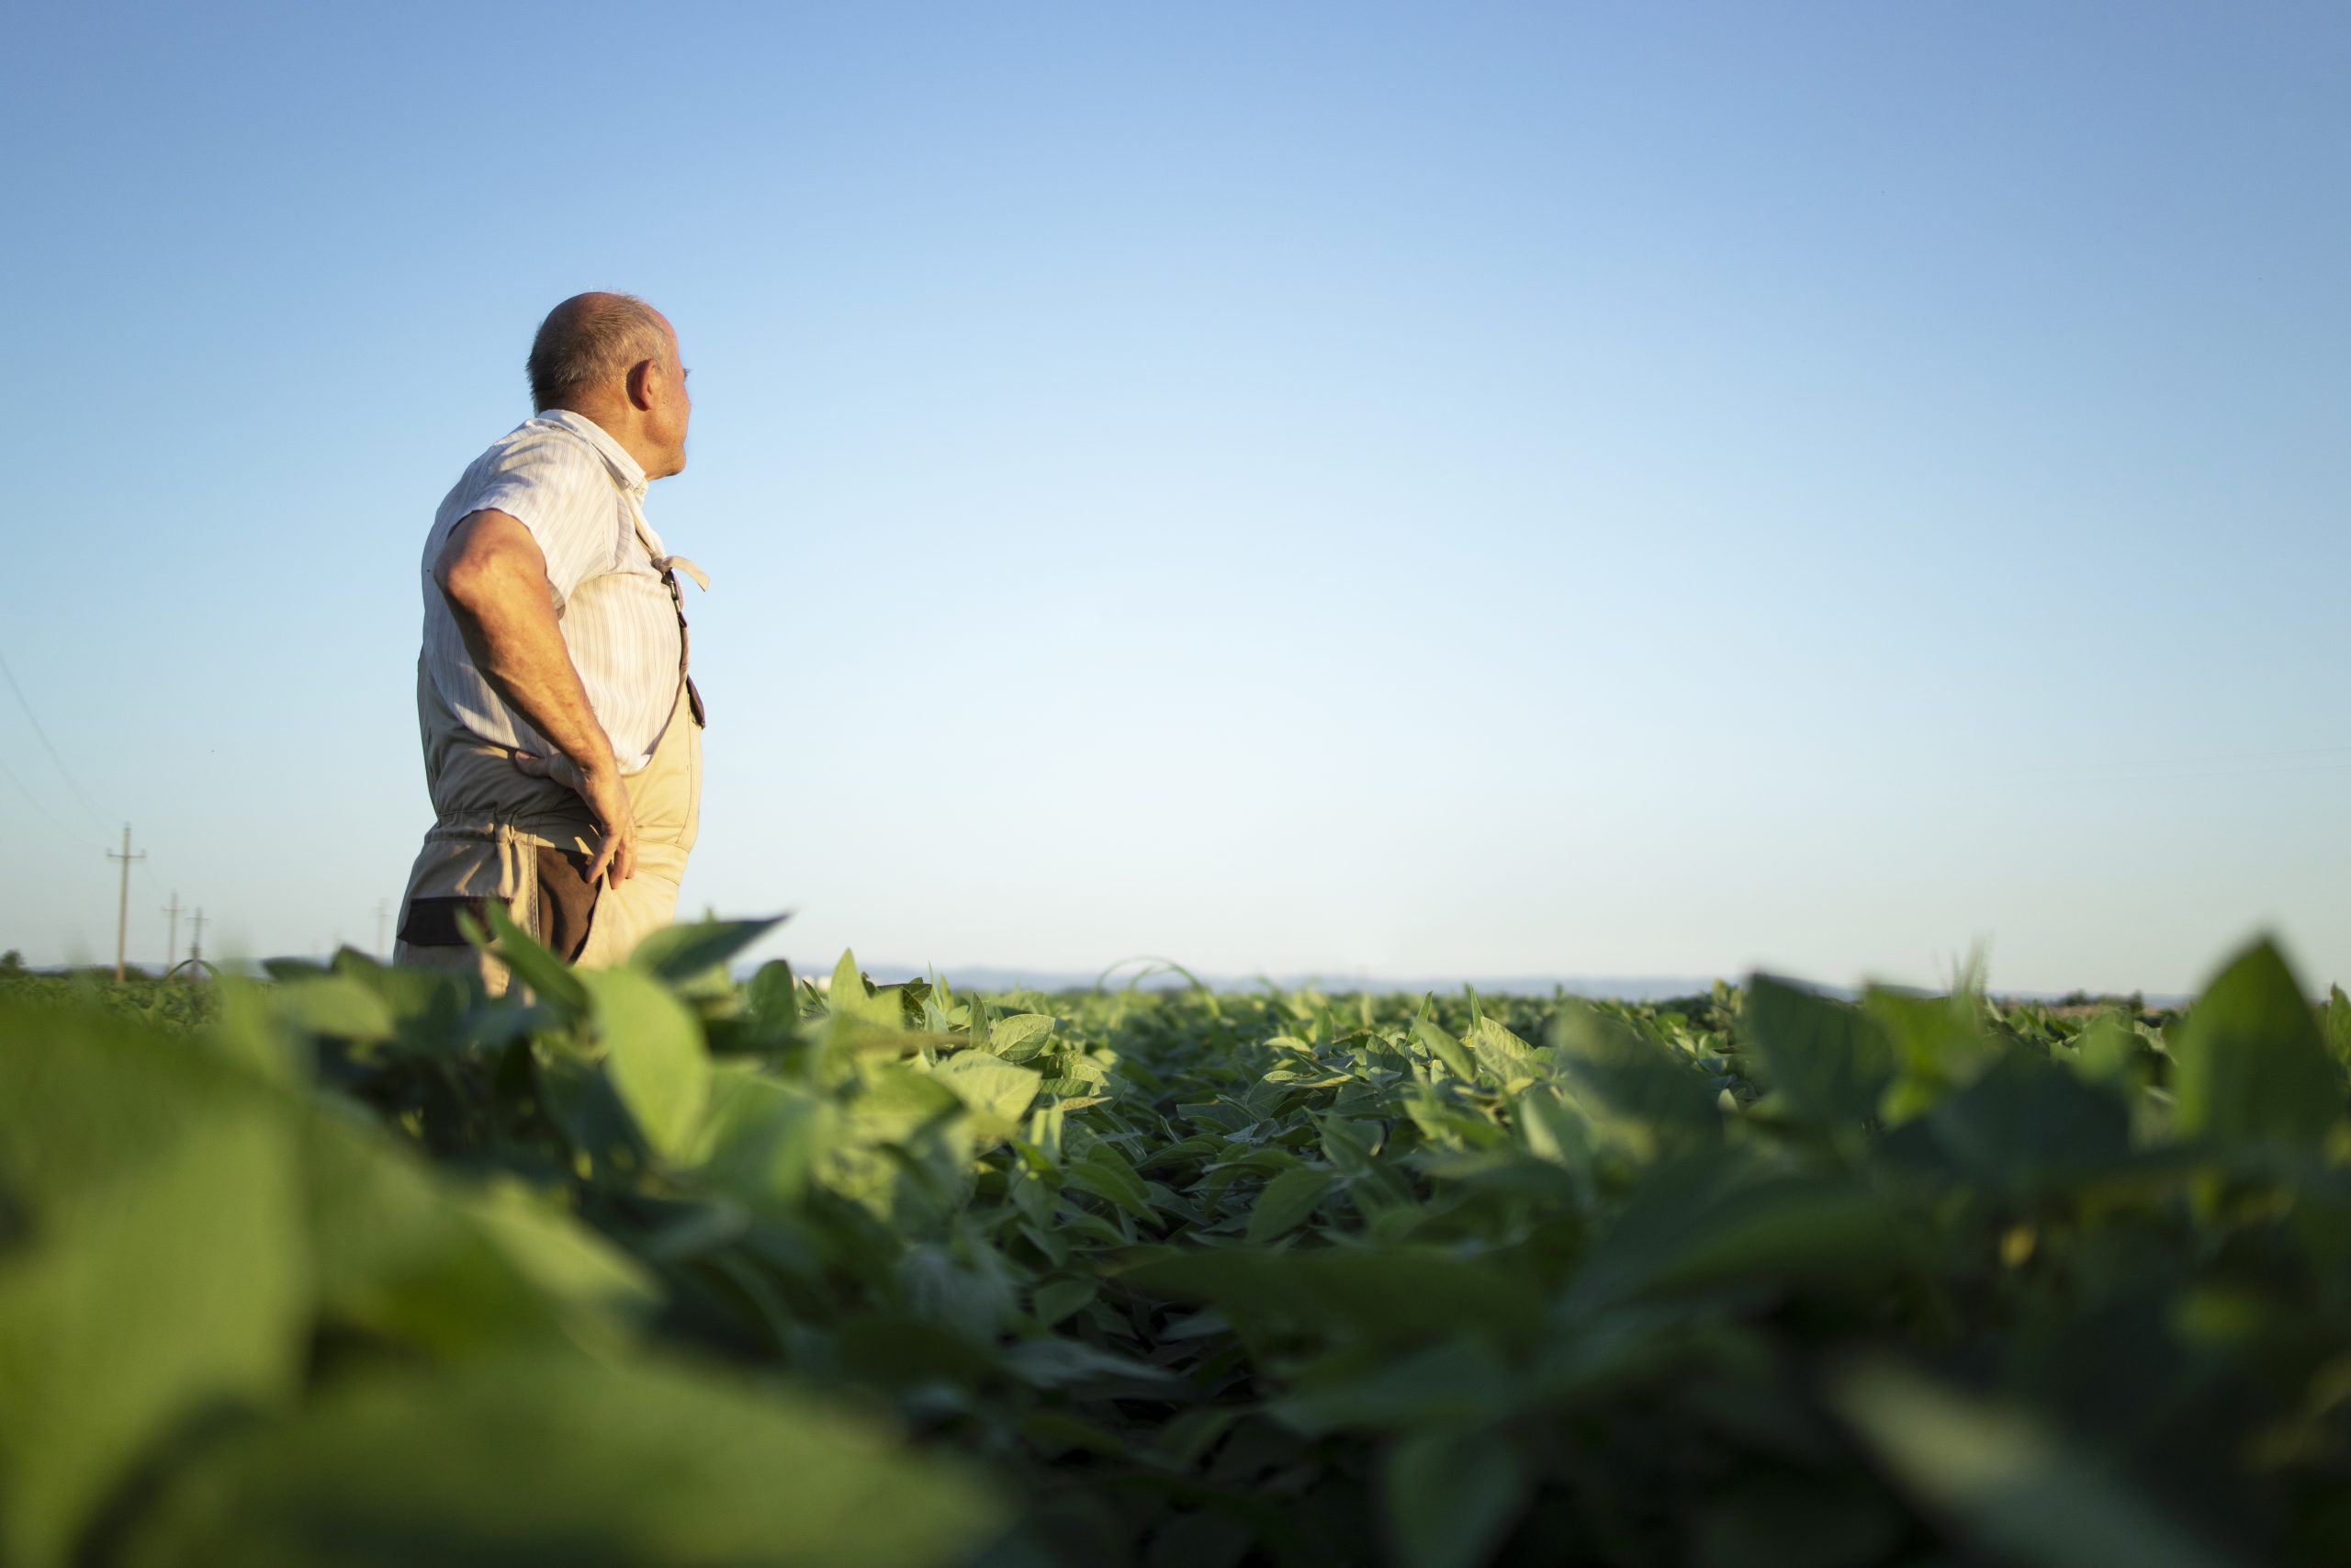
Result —
<path fill-rule="evenodd" d="M 651 555 L 642 515 L 637 538 Z M 703 705 L 686 675 L 684 595 L 670 559 L 656 564 L 677 607 L 677 703 L 651 762 L 621 778 L 637 818 L 637 870 L 621 886 L 583 882 L 597 830 L 578 792 L 531 778 L 515 766 L 513 750 L 465 729 L 423 658 L 416 661 L 416 724 L 437 820 L 400 898 L 395 964 L 470 971 L 489 994 L 501 994 L 505 964 L 468 945 L 456 924 L 461 912 L 480 922 L 491 898 L 574 964 L 618 964 L 637 938 L 677 917 L 677 884 L 701 830 Z M 691 562 L 679 564 L 694 571 Z"/>

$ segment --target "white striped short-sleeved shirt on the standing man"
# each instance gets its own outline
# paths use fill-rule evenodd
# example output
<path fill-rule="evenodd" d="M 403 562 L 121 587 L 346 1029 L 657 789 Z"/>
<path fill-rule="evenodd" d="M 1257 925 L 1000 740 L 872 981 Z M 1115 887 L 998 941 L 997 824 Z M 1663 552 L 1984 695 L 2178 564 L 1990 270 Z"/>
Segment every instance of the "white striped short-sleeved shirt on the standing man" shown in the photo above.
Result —
<path fill-rule="evenodd" d="M 677 607 L 654 564 L 663 548 L 644 522 L 644 468 L 595 421 L 548 409 L 473 461 L 426 536 L 426 670 L 435 691 L 491 745 L 548 755 L 545 738 L 482 679 L 433 581 L 449 531 L 491 508 L 538 541 L 588 705 L 621 771 L 644 769 L 677 708 L 679 679 Z"/>

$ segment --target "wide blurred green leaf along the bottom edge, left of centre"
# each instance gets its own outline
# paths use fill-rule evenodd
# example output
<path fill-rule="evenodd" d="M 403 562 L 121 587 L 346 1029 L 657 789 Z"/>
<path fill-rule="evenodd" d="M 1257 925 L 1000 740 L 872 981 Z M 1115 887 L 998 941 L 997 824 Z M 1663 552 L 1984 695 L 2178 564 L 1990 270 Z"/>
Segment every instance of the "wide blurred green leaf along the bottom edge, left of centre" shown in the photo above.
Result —
<path fill-rule="evenodd" d="M 357 1375 L 214 1441 L 125 1561 L 929 1568 L 1002 1523 L 973 1476 L 804 1394 L 548 1354 Z"/>

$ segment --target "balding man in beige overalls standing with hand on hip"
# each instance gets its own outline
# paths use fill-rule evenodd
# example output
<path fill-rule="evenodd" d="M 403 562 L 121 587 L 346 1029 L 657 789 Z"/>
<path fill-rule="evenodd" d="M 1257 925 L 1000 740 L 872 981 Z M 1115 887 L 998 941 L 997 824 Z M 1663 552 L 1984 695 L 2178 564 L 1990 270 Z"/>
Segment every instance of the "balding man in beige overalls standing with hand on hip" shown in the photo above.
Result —
<path fill-rule="evenodd" d="M 458 914 L 498 900 L 581 964 L 616 961 L 677 912 L 701 818 L 701 693 L 677 569 L 644 487 L 686 465 L 686 369 L 670 322 L 578 294 L 538 327 L 538 409 L 473 461 L 423 552 L 416 717 L 433 830 L 400 900 L 402 964 L 503 964 Z"/>

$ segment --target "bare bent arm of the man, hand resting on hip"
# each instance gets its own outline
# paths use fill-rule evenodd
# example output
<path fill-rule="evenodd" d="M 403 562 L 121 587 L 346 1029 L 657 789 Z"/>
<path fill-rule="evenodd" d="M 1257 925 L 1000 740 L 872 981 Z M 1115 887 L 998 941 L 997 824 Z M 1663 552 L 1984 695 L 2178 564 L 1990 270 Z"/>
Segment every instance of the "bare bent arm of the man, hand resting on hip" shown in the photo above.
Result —
<path fill-rule="evenodd" d="M 482 677 L 571 762 L 576 776 L 564 783 L 581 792 L 604 827 L 588 882 L 607 872 L 614 886 L 628 882 L 637 870 L 637 820 L 628 809 L 611 738 L 588 705 L 588 689 L 564 649 L 555 597 L 548 592 L 548 557 L 538 541 L 505 512 L 468 512 L 449 529 L 449 543 L 433 562 L 433 581 Z"/>

